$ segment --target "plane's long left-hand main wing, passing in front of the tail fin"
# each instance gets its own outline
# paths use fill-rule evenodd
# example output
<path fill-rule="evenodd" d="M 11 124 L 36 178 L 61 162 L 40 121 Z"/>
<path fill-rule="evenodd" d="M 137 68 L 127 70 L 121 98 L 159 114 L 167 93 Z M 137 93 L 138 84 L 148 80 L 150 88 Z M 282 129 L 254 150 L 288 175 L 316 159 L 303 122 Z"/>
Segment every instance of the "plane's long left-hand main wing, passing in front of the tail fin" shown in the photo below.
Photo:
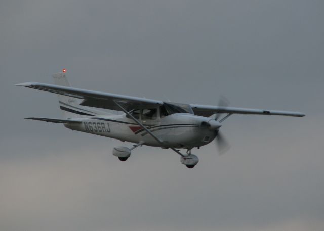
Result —
<path fill-rule="evenodd" d="M 103 93 L 100 91 L 86 90 L 68 86 L 59 86 L 54 84 L 46 84 L 39 82 L 25 82 L 16 84 L 17 86 L 25 86 L 29 88 L 34 88 L 38 90 L 45 90 L 51 93 L 56 93 L 64 96 L 74 97 L 78 99 L 83 99 L 80 105 L 105 108 L 110 110 L 120 111 L 120 108 L 116 106 L 114 101 L 124 104 L 127 110 L 132 110 L 135 108 L 147 108 L 156 105 L 163 105 L 162 101 L 149 100 L 139 97 L 131 97 L 124 95 L 117 95 L 111 93 Z"/>

